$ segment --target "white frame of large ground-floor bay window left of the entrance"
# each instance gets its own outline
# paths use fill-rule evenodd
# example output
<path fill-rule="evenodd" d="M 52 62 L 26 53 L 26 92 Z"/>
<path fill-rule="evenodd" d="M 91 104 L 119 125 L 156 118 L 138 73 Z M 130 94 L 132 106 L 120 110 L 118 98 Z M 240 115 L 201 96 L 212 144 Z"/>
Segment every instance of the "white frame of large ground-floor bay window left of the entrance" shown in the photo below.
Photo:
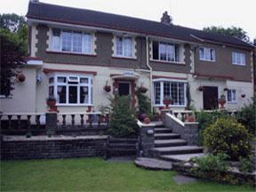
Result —
<path fill-rule="evenodd" d="M 49 79 L 53 77 L 53 83 L 49 83 Z M 58 77 L 66 77 L 66 83 L 60 83 L 57 81 Z M 77 84 L 68 84 L 69 77 L 77 77 Z M 88 78 L 88 83 L 80 83 L 80 78 Z M 72 82 L 72 80 L 71 80 Z M 73 81 L 75 82 L 75 81 Z M 74 75 L 74 74 L 63 74 L 63 73 L 53 73 L 48 78 L 48 87 L 53 86 L 53 96 L 57 100 L 58 98 L 58 86 L 66 86 L 66 103 L 59 103 L 57 100 L 57 106 L 92 106 L 92 76 L 90 75 Z M 69 103 L 69 86 L 77 87 L 77 103 Z M 88 103 L 80 103 L 80 87 L 86 86 L 88 87 Z M 49 95 L 49 89 L 48 89 Z"/>

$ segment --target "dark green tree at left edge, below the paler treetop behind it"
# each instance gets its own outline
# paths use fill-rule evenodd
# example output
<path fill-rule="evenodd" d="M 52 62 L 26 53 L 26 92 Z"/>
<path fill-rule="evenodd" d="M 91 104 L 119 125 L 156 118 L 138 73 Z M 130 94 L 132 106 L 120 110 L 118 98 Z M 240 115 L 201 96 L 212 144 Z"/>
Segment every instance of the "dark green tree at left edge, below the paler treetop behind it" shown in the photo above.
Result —
<path fill-rule="evenodd" d="M 12 33 L 9 29 L 0 28 L 0 57 L 1 57 L 1 95 L 6 97 L 11 94 L 14 89 L 14 76 L 17 75 L 17 68 L 26 62 L 24 55 L 24 43 L 19 36 Z"/>

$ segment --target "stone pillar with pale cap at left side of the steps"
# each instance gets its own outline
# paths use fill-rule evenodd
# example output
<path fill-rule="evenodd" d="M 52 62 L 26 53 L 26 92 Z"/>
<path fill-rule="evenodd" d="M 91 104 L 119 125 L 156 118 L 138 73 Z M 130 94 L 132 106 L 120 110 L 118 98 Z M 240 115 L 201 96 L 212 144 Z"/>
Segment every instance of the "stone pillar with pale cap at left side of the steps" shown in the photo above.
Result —
<path fill-rule="evenodd" d="M 149 156 L 149 148 L 154 148 L 154 127 L 155 124 L 140 125 L 140 147 L 143 156 Z"/>

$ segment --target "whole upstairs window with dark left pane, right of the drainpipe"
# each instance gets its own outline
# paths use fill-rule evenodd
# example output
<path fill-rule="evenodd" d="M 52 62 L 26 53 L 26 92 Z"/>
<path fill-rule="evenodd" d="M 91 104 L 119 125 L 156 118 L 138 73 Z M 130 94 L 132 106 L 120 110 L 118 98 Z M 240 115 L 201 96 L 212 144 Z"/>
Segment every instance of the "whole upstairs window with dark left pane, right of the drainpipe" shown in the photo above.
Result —
<path fill-rule="evenodd" d="M 153 60 L 180 62 L 180 45 L 153 41 Z"/>

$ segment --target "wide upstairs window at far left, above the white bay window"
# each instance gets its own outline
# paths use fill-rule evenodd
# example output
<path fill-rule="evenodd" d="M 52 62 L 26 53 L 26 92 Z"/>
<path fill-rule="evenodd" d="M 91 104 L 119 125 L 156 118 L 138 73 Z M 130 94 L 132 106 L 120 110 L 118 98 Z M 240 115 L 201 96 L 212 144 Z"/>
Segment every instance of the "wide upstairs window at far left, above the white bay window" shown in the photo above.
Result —
<path fill-rule="evenodd" d="M 92 54 L 92 35 L 52 28 L 52 51 Z"/>

